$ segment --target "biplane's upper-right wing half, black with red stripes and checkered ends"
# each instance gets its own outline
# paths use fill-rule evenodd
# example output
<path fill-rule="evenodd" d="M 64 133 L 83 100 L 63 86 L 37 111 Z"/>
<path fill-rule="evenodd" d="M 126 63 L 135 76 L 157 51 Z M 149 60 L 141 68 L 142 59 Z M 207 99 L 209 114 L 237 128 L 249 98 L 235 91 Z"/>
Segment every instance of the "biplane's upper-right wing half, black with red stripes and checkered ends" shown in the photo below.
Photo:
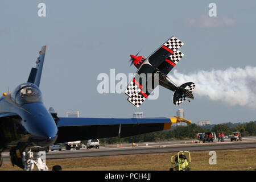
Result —
<path fill-rule="evenodd" d="M 158 49 L 156 49 L 155 52 L 148 56 L 144 63 L 146 63 L 148 60 L 148 62 L 154 68 L 163 67 L 162 63 L 168 63 L 169 65 L 172 65 L 173 68 L 177 64 L 177 62 L 184 56 L 183 53 L 178 50 L 183 45 L 184 43 L 181 42 L 181 40 L 177 39 L 175 36 L 172 36 L 170 39 L 164 42 Z"/>

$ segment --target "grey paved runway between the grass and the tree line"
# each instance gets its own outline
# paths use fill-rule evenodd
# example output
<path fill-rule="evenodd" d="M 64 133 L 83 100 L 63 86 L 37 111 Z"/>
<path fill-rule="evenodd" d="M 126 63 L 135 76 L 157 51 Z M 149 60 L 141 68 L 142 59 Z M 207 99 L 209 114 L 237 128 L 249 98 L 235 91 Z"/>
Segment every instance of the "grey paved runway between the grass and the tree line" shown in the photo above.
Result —
<path fill-rule="evenodd" d="M 113 155 L 134 155 L 134 154 L 154 154 L 163 152 L 177 152 L 177 151 L 210 151 L 210 150 L 239 150 L 245 148 L 256 148 L 256 137 L 243 137 L 241 142 L 226 142 L 213 143 L 191 143 L 192 140 L 176 140 L 167 142 L 148 142 L 137 143 L 137 147 L 132 147 L 131 143 L 122 144 L 122 147 L 117 147 L 117 144 L 109 144 L 101 146 L 100 148 L 92 148 L 87 150 L 81 148 L 80 150 L 62 150 L 49 151 L 46 154 L 49 159 L 68 159 L 68 158 L 88 158 L 95 156 L 113 156 Z M 3 153 L 3 162 L 8 162 L 9 153 Z"/>

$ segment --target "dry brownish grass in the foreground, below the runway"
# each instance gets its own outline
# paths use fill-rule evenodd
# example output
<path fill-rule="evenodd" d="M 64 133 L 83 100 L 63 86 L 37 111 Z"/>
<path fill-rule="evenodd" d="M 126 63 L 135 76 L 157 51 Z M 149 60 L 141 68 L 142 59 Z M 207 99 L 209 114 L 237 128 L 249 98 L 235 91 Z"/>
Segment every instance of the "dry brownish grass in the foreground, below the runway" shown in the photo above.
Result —
<path fill-rule="evenodd" d="M 247 150 L 217 151 L 217 164 L 209 164 L 209 151 L 191 152 L 192 171 L 256 170 L 256 148 Z M 69 171 L 168 171 L 171 156 L 177 153 L 104 156 L 91 158 L 47 160 L 49 170 L 60 165 Z M 36 169 L 36 167 L 35 167 Z M 2 171 L 22 170 L 4 162 Z"/>

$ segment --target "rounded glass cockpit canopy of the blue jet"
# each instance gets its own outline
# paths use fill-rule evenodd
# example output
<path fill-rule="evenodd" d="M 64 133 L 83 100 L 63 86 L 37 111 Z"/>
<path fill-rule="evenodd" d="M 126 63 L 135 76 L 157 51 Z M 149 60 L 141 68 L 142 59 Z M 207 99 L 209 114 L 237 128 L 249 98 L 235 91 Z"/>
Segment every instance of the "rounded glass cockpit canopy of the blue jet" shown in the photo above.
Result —
<path fill-rule="evenodd" d="M 29 102 L 42 102 L 42 93 L 38 86 L 31 83 L 20 84 L 13 93 L 13 100 L 17 104 Z"/>

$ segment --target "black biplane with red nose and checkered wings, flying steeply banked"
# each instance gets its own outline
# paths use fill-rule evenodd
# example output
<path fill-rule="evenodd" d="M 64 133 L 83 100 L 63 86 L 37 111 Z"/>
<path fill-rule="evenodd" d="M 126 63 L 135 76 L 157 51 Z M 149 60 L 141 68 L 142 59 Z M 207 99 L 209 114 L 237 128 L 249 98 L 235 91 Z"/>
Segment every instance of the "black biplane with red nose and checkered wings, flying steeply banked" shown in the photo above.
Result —
<path fill-rule="evenodd" d="M 139 52 L 135 56 L 130 55 L 131 65 L 134 64 L 138 68 L 137 73 L 133 76 L 124 91 L 129 96 L 127 100 L 131 104 L 136 107 L 141 106 L 158 85 L 174 92 L 172 99 L 175 105 L 180 105 L 186 98 L 194 99 L 192 91 L 196 85 L 193 82 L 187 82 L 177 86 L 167 76 L 184 56 L 179 51 L 179 48 L 183 45 L 184 43 L 181 40 L 172 36 L 156 49 L 156 51 L 151 53 L 147 59 L 138 56 Z"/>

